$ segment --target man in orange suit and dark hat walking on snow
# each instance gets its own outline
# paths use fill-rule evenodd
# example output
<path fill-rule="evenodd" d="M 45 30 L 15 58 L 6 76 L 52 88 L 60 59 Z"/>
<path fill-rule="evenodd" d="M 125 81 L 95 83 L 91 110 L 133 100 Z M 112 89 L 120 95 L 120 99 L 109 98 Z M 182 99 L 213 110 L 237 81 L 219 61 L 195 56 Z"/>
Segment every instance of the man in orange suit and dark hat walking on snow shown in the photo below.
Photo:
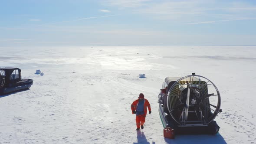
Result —
<path fill-rule="evenodd" d="M 144 128 L 144 122 L 147 115 L 147 107 L 148 114 L 151 114 L 150 104 L 147 99 L 144 98 L 143 93 L 139 95 L 139 98 L 131 104 L 131 113 L 136 114 L 136 125 L 138 131 L 140 128 Z"/>

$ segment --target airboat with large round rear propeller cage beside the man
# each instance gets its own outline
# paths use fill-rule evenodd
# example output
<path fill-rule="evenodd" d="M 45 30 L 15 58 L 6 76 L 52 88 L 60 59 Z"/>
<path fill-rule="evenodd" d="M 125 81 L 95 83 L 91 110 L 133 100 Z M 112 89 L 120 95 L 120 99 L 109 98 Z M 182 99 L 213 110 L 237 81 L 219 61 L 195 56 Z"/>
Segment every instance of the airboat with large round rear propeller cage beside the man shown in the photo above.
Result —
<path fill-rule="evenodd" d="M 203 76 L 166 77 L 158 104 L 164 130 L 171 129 L 174 135 L 217 134 L 220 129 L 214 121 L 222 111 L 220 92 Z"/>

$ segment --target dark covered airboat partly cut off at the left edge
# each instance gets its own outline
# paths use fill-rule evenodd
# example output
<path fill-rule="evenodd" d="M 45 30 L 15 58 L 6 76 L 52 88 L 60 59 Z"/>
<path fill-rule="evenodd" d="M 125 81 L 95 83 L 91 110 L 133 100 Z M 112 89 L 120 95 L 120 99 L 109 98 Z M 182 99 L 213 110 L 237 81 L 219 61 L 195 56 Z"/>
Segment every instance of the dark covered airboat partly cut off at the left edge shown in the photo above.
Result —
<path fill-rule="evenodd" d="M 33 79 L 21 79 L 18 68 L 0 68 L 0 95 L 29 89 Z"/>

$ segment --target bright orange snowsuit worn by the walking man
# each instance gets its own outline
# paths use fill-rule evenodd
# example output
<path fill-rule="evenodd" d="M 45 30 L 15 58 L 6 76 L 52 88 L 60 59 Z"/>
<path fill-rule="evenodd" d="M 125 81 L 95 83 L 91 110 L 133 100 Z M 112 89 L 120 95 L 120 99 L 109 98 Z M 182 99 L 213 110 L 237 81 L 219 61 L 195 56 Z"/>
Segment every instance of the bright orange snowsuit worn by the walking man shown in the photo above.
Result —
<path fill-rule="evenodd" d="M 137 100 L 133 101 L 133 103 L 131 104 L 131 113 L 132 114 L 135 114 L 132 111 L 136 111 L 138 103 L 139 103 L 139 98 Z M 145 122 L 145 118 L 146 118 L 146 115 L 147 115 L 147 107 L 148 107 L 148 111 L 151 111 L 150 104 L 149 104 L 148 100 L 144 98 L 144 114 L 143 115 L 136 115 L 136 126 L 137 126 L 137 128 L 141 128 L 141 125 L 143 125 L 144 122 Z"/>

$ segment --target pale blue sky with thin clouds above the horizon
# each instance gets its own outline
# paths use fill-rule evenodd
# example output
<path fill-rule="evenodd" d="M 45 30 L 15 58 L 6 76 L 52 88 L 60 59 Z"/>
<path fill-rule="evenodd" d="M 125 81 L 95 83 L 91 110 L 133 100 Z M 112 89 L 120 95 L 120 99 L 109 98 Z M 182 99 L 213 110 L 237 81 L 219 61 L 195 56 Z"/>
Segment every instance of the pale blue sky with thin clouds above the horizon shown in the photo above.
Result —
<path fill-rule="evenodd" d="M 255 0 L 1 0 L 0 47 L 256 45 Z"/>

